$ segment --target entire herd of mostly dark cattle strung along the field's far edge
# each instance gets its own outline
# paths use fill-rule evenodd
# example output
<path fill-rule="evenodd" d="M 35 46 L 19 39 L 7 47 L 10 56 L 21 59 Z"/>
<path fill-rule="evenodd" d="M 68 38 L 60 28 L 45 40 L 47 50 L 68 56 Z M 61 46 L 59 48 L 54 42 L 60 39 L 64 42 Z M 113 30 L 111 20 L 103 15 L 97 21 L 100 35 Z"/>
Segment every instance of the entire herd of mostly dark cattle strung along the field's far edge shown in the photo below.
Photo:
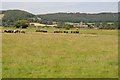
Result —
<path fill-rule="evenodd" d="M 43 32 L 43 33 L 47 33 L 48 31 L 46 30 L 36 30 L 35 32 Z M 25 31 L 23 30 L 3 30 L 3 33 L 24 33 L 25 34 Z M 60 31 L 60 30 L 57 30 L 57 31 L 54 31 L 54 33 L 69 33 L 68 31 Z M 70 33 L 79 33 L 79 31 L 71 31 Z"/>

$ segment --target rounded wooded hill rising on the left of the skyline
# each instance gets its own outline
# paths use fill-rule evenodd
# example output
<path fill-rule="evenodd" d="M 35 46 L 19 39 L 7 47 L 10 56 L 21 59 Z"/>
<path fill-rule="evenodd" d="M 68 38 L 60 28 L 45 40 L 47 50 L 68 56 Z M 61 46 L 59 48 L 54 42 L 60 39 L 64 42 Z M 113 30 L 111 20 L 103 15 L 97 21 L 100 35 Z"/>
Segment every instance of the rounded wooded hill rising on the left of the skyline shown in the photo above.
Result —
<path fill-rule="evenodd" d="M 2 18 L 3 25 L 12 25 L 16 20 L 27 20 L 35 17 L 34 14 L 22 10 L 6 10 L 2 11 L 2 14 L 4 14 L 4 17 Z"/>

